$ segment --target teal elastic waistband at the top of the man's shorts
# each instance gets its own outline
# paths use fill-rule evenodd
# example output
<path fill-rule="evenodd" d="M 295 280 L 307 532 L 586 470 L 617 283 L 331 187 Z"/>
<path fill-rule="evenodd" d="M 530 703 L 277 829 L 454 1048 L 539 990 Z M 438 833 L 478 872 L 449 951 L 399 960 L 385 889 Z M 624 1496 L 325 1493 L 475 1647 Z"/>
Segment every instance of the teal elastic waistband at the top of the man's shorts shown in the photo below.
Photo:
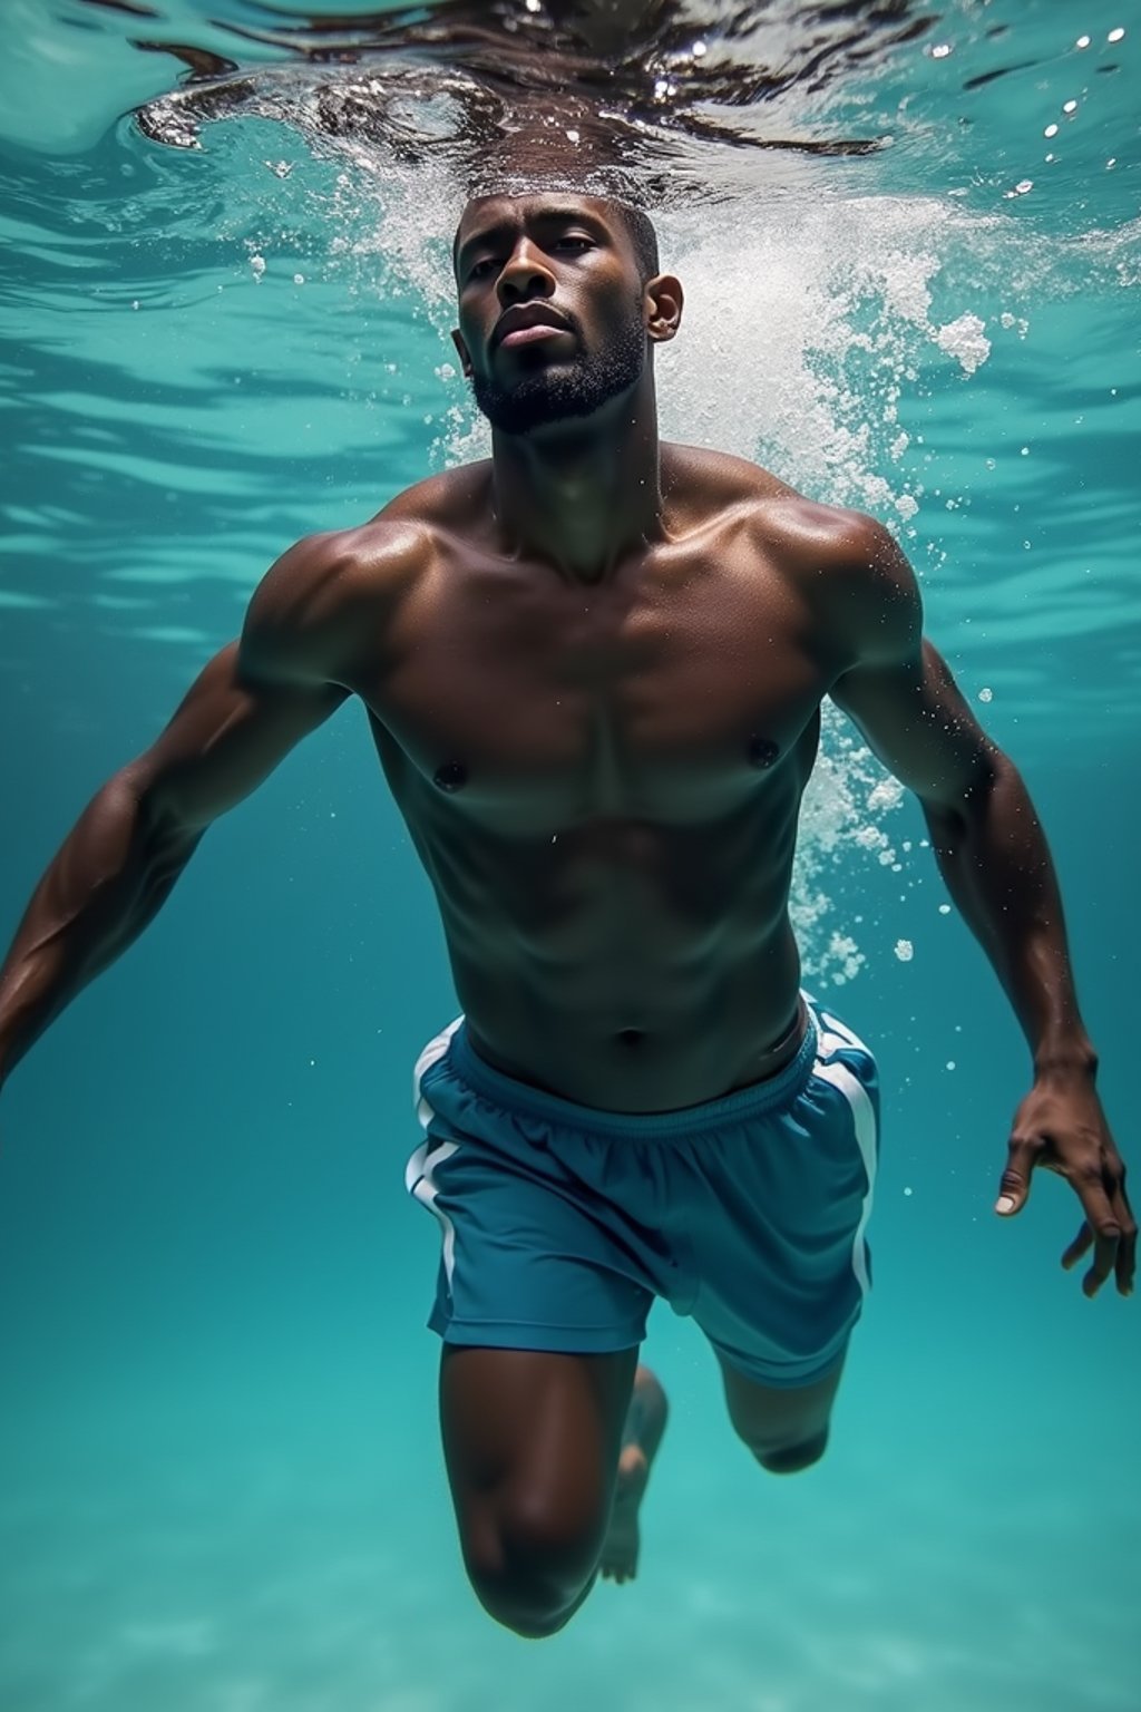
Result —
<path fill-rule="evenodd" d="M 818 1020 L 807 998 L 804 1014 L 804 1039 L 783 1070 L 765 1077 L 763 1082 L 734 1089 L 732 1094 L 706 1099 L 700 1106 L 683 1106 L 677 1111 L 602 1111 L 599 1106 L 580 1106 L 573 1099 L 518 1082 L 476 1053 L 465 1022 L 460 1022 L 448 1043 L 446 1063 L 474 1094 L 517 1116 L 541 1118 L 590 1135 L 688 1137 L 772 1115 L 799 1099 L 813 1075 L 818 1051 Z"/>

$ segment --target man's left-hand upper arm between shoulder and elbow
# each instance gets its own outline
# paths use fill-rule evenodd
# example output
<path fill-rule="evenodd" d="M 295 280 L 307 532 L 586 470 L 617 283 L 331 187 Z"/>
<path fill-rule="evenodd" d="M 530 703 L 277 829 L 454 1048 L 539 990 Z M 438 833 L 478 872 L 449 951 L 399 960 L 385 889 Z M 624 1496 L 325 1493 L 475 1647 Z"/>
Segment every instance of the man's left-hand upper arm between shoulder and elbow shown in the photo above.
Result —
<path fill-rule="evenodd" d="M 337 687 L 243 681 L 231 642 L 127 776 L 161 817 L 202 830 L 248 796 L 346 695 Z"/>

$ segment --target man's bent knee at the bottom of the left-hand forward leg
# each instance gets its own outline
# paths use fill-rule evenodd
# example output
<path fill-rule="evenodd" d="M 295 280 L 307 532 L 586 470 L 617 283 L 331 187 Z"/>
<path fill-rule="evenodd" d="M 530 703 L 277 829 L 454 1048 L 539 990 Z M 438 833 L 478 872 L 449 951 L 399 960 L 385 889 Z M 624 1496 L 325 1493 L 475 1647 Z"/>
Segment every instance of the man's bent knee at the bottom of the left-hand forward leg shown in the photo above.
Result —
<path fill-rule="evenodd" d="M 587 1597 L 602 1548 L 599 1519 L 535 1501 L 501 1503 L 464 1556 L 476 1597 L 527 1640 L 556 1635 Z"/>

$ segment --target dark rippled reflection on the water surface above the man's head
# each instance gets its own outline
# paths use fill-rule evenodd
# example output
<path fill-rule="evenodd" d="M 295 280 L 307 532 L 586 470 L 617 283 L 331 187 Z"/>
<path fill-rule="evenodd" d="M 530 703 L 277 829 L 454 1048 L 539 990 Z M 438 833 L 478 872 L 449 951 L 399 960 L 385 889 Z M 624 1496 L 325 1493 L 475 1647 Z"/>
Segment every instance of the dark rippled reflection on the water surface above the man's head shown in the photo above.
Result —
<path fill-rule="evenodd" d="M 932 24 L 913 0 L 440 0 L 359 17 L 265 7 L 260 17 L 229 26 L 234 58 L 137 39 L 188 70 L 176 92 L 140 110 L 149 137 L 195 147 L 217 118 L 291 118 L 409 163 L 445 154 L 474 185 L 624 169 L 641 193 L 659 176 L 684 188 L 686 159 L 703 146 L 874 152 L 874 128 L 814 122 L 819 98 Z M 279 62 L 243 68 L 243 46 Z"/>

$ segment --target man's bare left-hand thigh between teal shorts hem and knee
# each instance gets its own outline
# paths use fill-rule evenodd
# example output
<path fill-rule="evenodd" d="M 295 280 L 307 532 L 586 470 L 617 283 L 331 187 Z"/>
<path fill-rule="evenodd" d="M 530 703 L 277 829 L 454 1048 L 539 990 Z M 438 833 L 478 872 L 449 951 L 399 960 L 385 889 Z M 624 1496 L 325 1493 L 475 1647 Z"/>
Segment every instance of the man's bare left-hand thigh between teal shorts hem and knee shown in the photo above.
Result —
<path fill-rule="evenodd" d="M 440 1423 L 469 1568 L 505 1548 L 582 1573 L 602 1549 L 638 1349 L 443 1346 Z"/>

